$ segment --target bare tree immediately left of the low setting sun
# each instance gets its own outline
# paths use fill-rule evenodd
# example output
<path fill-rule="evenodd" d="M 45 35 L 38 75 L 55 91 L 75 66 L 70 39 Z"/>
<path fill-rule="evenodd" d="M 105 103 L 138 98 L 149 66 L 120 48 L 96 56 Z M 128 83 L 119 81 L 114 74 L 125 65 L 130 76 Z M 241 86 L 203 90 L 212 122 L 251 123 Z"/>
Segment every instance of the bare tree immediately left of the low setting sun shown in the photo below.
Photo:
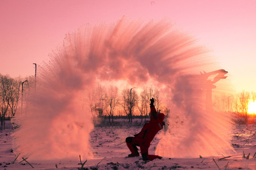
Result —
<path fill-rule="evenodd" d="M 248 112 L 248 104 L 250 100 L 250 93 L 249 92 L 241 92 L 238 94 L 239 98 L 239 108 L 243 113 L 243 117 L 245 118 L 245 121 L 247 123 L 248 117 L 247 117 L 247 112 Z"/>

